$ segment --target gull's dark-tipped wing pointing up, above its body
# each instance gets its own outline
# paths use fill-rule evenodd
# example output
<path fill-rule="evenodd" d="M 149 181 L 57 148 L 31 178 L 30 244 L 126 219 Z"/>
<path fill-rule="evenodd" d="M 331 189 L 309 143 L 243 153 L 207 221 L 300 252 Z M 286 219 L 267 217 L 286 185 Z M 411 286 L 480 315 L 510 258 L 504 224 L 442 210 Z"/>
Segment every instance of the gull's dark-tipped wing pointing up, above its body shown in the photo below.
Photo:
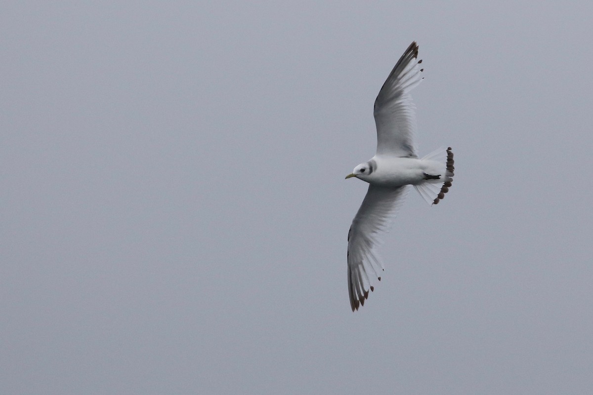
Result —
<path fill-rule="evenodd" d="M 415 105 L 409 91 L 422 81 L 418 45 L 414 41 L 401 55 L 375 99 L 377 154 L 417 158 Z"/>

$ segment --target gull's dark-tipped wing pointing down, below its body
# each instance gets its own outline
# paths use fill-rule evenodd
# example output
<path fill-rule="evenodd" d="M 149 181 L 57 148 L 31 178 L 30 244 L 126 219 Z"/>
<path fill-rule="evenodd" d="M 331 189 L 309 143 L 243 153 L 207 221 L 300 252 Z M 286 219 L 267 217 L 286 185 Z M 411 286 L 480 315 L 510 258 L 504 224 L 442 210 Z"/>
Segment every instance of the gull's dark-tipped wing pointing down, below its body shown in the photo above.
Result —
<path fill-rule="evenodd" d="M 361 208 L 348 232 L 348 293 L 352 311 L 365 304 L 373 277 L 381 280 L 383 266 L 374 251 L 378 233 L 388 230 L 397 208 L 403 203 L 406 187 L 387 188 L 369 185 Z"/>

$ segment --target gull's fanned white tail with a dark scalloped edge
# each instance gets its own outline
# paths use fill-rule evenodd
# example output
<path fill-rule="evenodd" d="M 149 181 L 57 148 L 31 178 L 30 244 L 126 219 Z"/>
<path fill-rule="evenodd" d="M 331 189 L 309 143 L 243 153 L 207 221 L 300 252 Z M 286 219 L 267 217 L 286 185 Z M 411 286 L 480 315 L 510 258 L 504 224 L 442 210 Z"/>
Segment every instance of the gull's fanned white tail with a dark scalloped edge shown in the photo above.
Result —
<path fill-rule="evenodd" d="M 455 170 L 455 167 L 453 166 L 453 152 L 451 151 L 451 147 L 448 147 L 446 150 L 444 148 L 439 148 L 422 159 L 434 160 L 437 163 L 441 163 L 439 166 L 442 166 L 441 171 L 438 173 L 438 175 L 441 176 L 439 178 L 426 179 L 424 182 L 414 185 L 414 188 L 416 188 L 416 191 L 418 191 L 426 203 L 438 204 L 439 200 L 445 197 L 445 194 L 449 191 L 453 182 Z"/>

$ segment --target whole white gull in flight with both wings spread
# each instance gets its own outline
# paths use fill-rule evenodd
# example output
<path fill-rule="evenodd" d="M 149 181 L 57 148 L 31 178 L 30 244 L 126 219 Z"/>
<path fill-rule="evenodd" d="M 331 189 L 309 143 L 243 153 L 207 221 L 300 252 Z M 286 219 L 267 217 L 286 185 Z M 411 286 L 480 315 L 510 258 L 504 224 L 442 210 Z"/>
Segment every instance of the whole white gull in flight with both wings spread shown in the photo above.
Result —
<path fill-rule="evenodd" d="M 407 185 L 413 185 L 427 203 L 437 204 L 453 181 L 451 147 L 417 159 L 415 105 L 409 94 L 423 79 L 422 60 L 417 57 L 418 45 L 414 41 L 375 99 L 377 153 L 346 176 L 369 183 L 348 232 L 348 293 L 352 311 L 364 306 L 369 290 L 374 291 L 372 280 L 381 281 L 383 266 L 375 252 L 377 236 L 389 229 Z"/>

